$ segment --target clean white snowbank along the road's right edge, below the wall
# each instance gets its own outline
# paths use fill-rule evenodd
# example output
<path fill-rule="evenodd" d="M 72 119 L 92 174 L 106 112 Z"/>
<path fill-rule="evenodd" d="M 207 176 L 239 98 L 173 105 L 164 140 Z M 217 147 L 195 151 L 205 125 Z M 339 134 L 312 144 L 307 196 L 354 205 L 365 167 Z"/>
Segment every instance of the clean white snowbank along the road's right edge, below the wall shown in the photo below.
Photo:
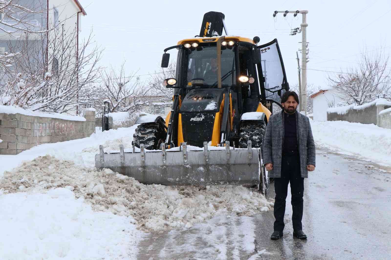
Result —
<path fill-rule="evenodd" d="M 383 165 L 391 165 L 391 129 L 347 121 L 312 121 L 316 145 L 347 151 Z"/>

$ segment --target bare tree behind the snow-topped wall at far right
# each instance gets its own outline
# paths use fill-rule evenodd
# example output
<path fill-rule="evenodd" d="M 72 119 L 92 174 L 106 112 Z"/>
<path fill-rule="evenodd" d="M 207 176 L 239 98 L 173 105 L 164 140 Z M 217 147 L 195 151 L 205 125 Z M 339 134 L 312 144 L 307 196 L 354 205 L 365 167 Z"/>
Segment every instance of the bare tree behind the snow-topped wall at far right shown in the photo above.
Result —
<path fill-rule="evenodd" d="M 387 69 L 388 61 L 389 55 L 385 55 L 384 51 L 376 54 L 364 52 L 358 68 L 341 70 L 337 75 L 328 76 L 328 84 L 348 104 L 362 105 L 376 98 L 391 100 L 391 70 Z"/>

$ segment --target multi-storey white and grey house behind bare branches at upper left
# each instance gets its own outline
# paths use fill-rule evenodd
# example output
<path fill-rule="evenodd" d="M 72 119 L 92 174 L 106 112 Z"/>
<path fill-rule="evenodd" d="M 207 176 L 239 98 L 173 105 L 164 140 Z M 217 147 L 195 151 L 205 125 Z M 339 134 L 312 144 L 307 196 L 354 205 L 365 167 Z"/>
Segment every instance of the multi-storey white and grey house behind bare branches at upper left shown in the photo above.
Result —
<path fill-rule="evenodd" d="M 47 60 L 50 57 L 51 49 L 48 46 L 50 45 L 49 40 L 60 28 L 61 30 L 64 28 L 66 32 L 76 31 L 74 41 L 76 49 L 78 49 L 81 18 L 87 15 L 78 0 L 18 0 L 17 4 L 34 12 L 16 12 L 12 15 L 14 19 L 7 16 L 7 13 L 0 12 L 0 54 L 17 52 L 21 49 L 23 41 L 28 41 L 30 46 L 39 50 L 38 59 L 39 57 L 46 59 L 47 70 L 50 71 L 53 67 L 51 63 L 56 63 L 56 59 Z M 16 25 L 15 20 L 22 20 L 22 22 Z M 12 25 L 20 27 L 22 30 L 17 30 Z M 54 30 L 47 32 L 47 28 L 53 27 Z M 26 34 L 26 30 L 44 32 Z M 75 61 L 77 58 L 75 57 Z"/>

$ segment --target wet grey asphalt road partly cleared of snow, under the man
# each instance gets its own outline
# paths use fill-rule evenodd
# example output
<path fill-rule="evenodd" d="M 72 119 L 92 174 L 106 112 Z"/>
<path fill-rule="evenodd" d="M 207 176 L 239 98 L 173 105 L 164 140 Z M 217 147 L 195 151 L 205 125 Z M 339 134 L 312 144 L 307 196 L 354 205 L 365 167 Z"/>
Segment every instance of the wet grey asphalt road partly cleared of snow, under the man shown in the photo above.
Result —
<path fill-rule="evenodd" d="M 292 237 L 289 187 L 283 238 L 270 240 L 273 211 L 255 215 L 252 218 L 255 251 L 248 254 L 239 250 L 241 260 L 391 259 L 391 167 L 323 149 L 317 150 L 316 162 L 316 170 L 304 181 L 302 223 L 308 239 Z M 268 196 L 274 197 L 273 183 Z M 238 230 L 237 221 L 235 218 L 216 220 L 215 228 L 225 228 L 227 233 L 227 259 L 239 259 L 238 241 L 231 241 L 229 234 Z M 213 246 L 208 242 L 205 234 L 208 227 L 203 228 L 204 225 L 149 235 L 140 243 L 138 259 L 217 259 L 214 251 L 208 251 Z M 264 249 L 265 254 L 256 253 Z M 195 258 L 200 252 L 205 253 Z"/>

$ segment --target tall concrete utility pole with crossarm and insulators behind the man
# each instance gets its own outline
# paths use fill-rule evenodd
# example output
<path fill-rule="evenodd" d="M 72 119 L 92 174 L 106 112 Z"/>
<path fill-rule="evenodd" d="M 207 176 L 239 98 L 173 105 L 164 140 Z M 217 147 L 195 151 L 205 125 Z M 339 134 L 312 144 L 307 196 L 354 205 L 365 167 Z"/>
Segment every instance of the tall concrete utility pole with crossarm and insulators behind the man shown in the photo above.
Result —
<path fill-rule="evenodd" d="M 283 13 L 284 17 L 286 17 L 288 13 L 292 13 L 294 17 L 296 17 L 297 14 L 301 14 L 302 16 L 302 22 L 300 26 L 301 26 L 301 69 L 303 70 L 303 72 L 301 73 L 300 97 L 302 102 L 300 103 L 303 103 L 303 106 L 300 107 L 305 111 L 305 115 L 307 116 L 307 26 L 308 26 L 307 14 L 308 11 L 307 10 L 274 11 L 273 17 L 276 17 L 276 14 L 279 12 Z M 300 112 L 303 111 L 301 109 Z"/>

